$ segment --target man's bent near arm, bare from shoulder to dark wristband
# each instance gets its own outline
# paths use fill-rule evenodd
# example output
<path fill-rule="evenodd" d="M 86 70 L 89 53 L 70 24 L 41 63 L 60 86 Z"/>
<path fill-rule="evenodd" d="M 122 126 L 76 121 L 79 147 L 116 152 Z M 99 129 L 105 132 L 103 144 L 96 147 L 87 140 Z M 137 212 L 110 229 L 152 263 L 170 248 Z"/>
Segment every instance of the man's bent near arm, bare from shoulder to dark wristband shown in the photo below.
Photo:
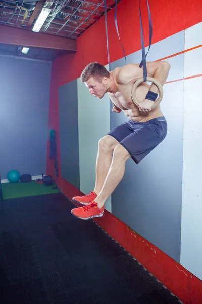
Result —
<path fill-rule="evenodd" d="M 147 77 L 157 79 L 163 86 L 168 78 L 170 64 L 166 61 L 156 61 L 146 63 Z M 117 82 L 120 84 L 128 84 L 129 82 L 136 82 L 143 77 L 143 69 L 139 64 L 126 64 L 120 68 L 117 75 Z M 150 86 L 150 91 L 158 93 L 156 85 Z"/>

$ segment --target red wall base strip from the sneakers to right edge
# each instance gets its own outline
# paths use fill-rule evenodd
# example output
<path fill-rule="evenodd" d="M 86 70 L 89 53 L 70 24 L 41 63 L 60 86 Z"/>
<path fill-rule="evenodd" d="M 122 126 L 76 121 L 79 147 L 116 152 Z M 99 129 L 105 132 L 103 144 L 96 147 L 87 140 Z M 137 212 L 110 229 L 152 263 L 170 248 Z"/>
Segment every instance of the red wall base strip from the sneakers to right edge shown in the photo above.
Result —
<path fill-rule="evenodd" d="M 184 304 L 202 303 L 202 281 L 179 263 L 108 211 L 95 221 Z"/>

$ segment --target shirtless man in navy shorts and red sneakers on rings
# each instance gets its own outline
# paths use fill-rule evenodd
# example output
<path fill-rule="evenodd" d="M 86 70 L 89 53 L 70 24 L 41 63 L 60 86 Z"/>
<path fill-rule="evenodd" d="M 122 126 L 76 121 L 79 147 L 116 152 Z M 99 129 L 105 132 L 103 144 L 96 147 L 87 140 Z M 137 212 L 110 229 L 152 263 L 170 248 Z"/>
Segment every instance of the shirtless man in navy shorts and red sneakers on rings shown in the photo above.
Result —
<path fill-rule="evenodd" d="M 146 68 L 148 77 L 165 84 L 170 70 L 168 62 L 147 62 Z M 71 210 L 78 218 L 103 216 L 106 200 L 124 175 L 126 160 L 131 157 L 138 164 L 166 137 L 167 122 L 160 105 L 151 108 L 158 95 L 156 85 L 143 82 L 137 87 L 136 98 L 142 100 L 139 107 L 131 99 L 132 86 L 142 77 L 138 64 L 109 72 L 102 64 L 92 62 L 81 73 L 81 82 L 90 94 L 101 99 L 107 93 L 114 105 L 113 112 L 123 111 L 128 121 L 99 140 L 95 187 L 85 196 L 73 197 L 73 201 L 85 205 Z"/>

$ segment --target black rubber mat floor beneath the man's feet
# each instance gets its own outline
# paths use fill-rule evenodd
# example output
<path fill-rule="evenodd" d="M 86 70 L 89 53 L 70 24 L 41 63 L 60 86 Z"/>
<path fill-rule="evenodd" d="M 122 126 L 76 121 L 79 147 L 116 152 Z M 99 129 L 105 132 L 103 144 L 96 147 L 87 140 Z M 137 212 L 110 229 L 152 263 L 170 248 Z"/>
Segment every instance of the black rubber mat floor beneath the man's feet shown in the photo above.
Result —
<path fill-rule="evenodd" d="M 1 304 L 175 304 L 171 295 L 63 194 L 1 202 Z"/>

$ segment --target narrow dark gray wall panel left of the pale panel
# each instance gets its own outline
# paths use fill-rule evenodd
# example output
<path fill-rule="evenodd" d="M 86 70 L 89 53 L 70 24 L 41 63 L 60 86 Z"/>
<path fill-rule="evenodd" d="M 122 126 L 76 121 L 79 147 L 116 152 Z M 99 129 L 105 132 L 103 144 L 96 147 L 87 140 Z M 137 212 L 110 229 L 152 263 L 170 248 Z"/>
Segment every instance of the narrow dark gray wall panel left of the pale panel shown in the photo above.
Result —
<path fill-rule="evenodd" d="M 59 87 L 59 123 L 61 175 L 79 189 L 77 79 Z"/>

